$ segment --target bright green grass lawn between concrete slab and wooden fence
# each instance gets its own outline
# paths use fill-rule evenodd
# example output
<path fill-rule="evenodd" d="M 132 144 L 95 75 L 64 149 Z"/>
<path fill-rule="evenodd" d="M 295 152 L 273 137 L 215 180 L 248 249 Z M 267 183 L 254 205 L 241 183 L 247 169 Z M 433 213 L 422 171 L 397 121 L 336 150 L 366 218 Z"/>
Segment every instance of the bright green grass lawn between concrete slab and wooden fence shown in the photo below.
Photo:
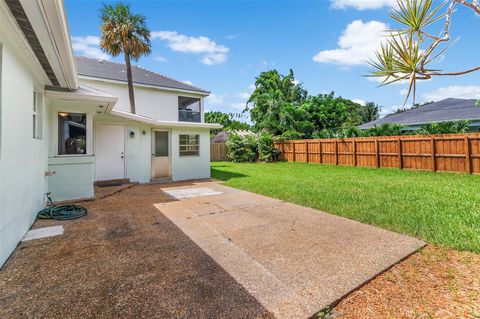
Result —
<path fill-rule="evenodd" d="M 231 187 L 480 253 L 480 176 L 287 162 L 211 169 Z"/>

